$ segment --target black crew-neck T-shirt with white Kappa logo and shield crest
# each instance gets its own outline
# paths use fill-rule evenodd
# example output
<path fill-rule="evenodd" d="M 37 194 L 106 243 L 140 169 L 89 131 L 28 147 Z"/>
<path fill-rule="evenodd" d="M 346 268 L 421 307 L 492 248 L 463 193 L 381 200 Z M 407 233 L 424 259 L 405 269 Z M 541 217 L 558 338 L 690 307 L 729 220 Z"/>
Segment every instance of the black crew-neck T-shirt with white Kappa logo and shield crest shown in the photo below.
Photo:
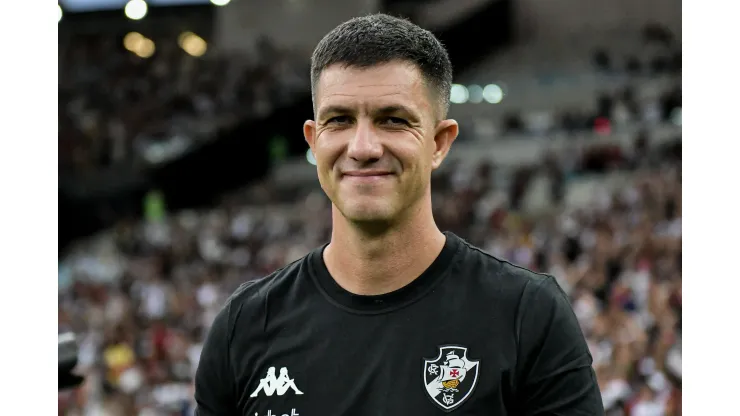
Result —
<path fill-rule="evenodd" d="M 555 280 L 447 233 L 409 285 L 342 289 L 324 247 L 242 285 L 205 341 L 200 416 L 604 413 Z"/>

